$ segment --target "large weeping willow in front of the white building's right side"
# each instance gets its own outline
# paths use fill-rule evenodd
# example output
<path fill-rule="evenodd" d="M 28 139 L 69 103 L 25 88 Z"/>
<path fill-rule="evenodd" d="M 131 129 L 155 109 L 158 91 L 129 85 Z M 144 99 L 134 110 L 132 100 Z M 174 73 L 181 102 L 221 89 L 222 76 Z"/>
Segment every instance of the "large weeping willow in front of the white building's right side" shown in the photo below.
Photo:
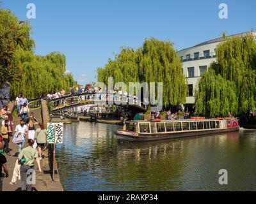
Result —
<path fill-rule="evenodd" d="M 196 112 L 216 117 L 255 109 L 255 71 L 255 36 L 226 38 L 216 47 L 216 62 L 198 83 Z"/>

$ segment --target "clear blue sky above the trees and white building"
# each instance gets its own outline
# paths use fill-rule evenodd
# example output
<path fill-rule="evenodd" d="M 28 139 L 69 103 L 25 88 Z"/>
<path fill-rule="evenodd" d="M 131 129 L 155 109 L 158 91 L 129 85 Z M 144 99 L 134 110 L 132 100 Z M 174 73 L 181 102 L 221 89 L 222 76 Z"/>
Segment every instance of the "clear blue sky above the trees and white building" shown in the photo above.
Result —
<path fill-rule="evenodd" d="M 123 46 L 140 47 L 145 38 L 173 41 L 180 50 L 218 38 L 223 31 L 256 30 L 255 0 L 1 1 L 20 20 L 29 20 L 28 3 L 36 5 L 36 19 L 29 20 L 36 54 L 65 54 L 67 70 L 79 84 L 95 81 L 96 68 Z M 228 5 L 228 19 L 218 17 L 220 3 Z"/>

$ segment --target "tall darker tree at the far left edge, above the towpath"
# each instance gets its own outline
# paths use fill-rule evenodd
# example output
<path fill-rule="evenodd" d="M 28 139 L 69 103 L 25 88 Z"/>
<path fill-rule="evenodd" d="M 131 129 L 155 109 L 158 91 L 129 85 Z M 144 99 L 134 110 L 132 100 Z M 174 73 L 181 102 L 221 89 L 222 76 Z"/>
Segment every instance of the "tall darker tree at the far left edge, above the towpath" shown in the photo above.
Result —
<path fill-rule="evenodd" d="M 0 86 L 17 77 L 17 50 L 32 50 L 34 41 L 29 36 L 28 23 L 20 22 L 10 10 L 0 9 Z"/>

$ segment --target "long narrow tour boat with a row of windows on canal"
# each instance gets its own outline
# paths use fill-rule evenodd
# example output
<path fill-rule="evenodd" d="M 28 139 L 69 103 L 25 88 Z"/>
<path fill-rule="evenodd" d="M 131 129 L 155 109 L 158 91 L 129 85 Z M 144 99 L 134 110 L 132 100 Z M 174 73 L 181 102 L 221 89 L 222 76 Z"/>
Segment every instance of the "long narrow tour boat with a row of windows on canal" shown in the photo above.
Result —
<path fill-rule="evenodd" d="M 236 118 L 125 121 L 116 131 L 121 142 L 143 142 L 239 131 Z"/>

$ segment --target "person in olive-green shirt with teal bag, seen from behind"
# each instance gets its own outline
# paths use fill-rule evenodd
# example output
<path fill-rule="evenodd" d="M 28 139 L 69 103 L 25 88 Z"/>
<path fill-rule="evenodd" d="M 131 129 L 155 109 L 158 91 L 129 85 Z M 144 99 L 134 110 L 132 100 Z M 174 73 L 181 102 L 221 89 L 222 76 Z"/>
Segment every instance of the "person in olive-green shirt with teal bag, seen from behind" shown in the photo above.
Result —
<path fill-rule="evenodd" d="M 19 154 L 19 161 L 21 163 L 20 166 L 20 176 L 21 176 L 21 191 L 32 191 L 32 182 L 28 183 L 28 175 L 33 174 L 33 178 L 35 178 L 35 159 L 38 164 L 39 171 L 42 172 L 40 166 L 40 160 L 38 158 L 38 152 L 33 149 L 34 140 L 28 140 L 28 147 L 22 149 Z M 35 181 L 35 180 L 34 180 Z"/>

